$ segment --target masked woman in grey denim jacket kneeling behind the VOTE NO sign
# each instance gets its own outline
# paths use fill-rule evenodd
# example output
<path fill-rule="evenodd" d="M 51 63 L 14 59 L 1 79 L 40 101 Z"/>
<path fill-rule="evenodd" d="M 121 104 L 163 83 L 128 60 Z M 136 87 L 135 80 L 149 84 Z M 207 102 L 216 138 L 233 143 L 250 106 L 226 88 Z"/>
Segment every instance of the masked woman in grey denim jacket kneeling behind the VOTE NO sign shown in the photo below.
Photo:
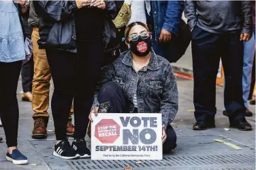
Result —
<path fill-rule="evenodd" d="M 91 114 L 159 112 L 163 121 L 163 152 L 170 152 L 176 148 L 176 133 L 170 123 L 178 111 L 174 72 L 170 63 L 151 48 L 151 35 L 145 24 L 131 23 L 125 38 L 129 51 L 102 69 Z M 100 105 L 104 106 L 101 110 Z M 93 121 L 91 114 L 89 119 Z"/>

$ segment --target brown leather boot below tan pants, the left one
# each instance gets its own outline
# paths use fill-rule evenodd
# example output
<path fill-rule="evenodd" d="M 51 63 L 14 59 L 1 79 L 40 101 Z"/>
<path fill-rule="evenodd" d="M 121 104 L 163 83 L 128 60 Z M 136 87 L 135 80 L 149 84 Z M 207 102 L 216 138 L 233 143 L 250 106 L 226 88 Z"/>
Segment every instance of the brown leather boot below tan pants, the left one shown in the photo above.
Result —
<path fill-rule="evenodd" d="M 44 121 L 44 119 L 41 118 L 35 119 L 34 128 L 32 131 L 32 138 L 42 140 L 45 139 L 46 137 L 46 121 Z"/>

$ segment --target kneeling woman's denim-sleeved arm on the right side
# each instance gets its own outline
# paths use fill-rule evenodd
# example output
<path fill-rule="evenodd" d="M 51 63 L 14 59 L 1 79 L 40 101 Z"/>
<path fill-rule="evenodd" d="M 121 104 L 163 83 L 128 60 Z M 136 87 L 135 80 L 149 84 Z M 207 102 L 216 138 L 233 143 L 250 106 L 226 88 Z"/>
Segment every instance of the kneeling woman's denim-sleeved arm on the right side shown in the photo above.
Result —
<path fill-rule="evenodd" d="M 165 130 L 172 123 L 176 113 L 178 112 L 178 89 L 176 78 L 172 67 L 167 70 L 167 77 L 161 94 L 161 110 L 163 125 Z"/>

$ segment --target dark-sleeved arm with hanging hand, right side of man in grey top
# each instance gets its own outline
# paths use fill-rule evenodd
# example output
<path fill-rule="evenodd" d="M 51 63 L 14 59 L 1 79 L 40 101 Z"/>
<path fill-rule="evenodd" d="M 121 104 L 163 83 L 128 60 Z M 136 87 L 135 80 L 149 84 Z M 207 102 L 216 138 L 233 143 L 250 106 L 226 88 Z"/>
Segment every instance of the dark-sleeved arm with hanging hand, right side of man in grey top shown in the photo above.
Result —
<path fill-rule="evenodd" d="M 241 1 L 241 7 L 244 22 L 242 23 L 240 40 L 249 41 L 251 39 L 251 30 L 253 26 L 253 20 L 251 15 L 251 1 Z"/>

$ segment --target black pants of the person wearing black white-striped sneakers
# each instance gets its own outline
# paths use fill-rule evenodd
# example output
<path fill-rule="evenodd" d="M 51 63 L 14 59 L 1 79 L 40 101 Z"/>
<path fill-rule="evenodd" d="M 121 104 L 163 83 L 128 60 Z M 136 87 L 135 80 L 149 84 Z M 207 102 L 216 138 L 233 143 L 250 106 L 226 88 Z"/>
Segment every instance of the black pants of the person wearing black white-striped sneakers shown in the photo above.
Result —
<path fill-rule="evenodd" d="M 67 121 L 74 98 L 75 139 L 86 135 L 93 91 L 100 76 L 102 41 L 80 41 L 78 54 L 46 49 L 54 93 L 52 116 L 57 140 L 66 139 Z"/>

